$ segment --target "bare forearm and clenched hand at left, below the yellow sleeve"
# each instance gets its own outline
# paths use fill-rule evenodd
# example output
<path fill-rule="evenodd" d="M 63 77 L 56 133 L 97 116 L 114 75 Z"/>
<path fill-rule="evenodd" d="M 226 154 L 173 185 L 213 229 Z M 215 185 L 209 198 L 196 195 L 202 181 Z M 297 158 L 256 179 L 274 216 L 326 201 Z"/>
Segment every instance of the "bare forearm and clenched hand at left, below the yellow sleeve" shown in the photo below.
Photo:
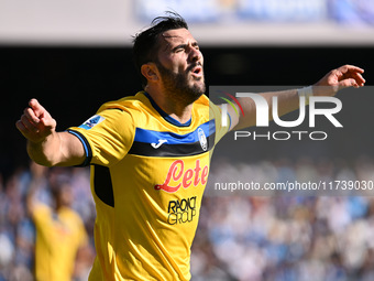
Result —
<path fill-rule="evenodd" d="M 31 99 L 15 126 L 28 139 L 28 153 L 45 166 L 79 165 L 85 161 L 80 140 L 69 132 L 56 132 L 56 120 L 36 99 Z"/>

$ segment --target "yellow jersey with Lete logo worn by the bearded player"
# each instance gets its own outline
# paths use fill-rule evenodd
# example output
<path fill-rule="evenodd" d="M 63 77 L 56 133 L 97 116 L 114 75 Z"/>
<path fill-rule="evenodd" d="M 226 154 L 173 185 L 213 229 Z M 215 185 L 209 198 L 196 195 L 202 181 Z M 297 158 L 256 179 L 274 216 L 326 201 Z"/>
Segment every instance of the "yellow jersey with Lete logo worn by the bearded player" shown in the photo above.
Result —
<path fill-rule="evenodd" d="M 89 280 L 189 280 L 210 153 L 228 131 L 201 96 L 179 123 L 146 93 L 105 104 L 69 132 L 91 165 L 97 257 Z"/>

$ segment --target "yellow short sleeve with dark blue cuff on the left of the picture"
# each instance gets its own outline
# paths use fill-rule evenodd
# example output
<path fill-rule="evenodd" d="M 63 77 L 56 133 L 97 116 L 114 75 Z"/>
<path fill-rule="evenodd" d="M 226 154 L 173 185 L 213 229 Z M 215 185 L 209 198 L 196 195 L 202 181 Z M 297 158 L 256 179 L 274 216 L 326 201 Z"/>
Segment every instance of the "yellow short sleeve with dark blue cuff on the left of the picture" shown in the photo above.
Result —
<path fill-rule="evenodd" d="M 124 109 L 99 110 L 79 127 L 67 130 L 84 144 L 86 161 L 82 165 L 110 166 L 119 162 L 130 150 L 134 139 L 134 122 Z"/>

